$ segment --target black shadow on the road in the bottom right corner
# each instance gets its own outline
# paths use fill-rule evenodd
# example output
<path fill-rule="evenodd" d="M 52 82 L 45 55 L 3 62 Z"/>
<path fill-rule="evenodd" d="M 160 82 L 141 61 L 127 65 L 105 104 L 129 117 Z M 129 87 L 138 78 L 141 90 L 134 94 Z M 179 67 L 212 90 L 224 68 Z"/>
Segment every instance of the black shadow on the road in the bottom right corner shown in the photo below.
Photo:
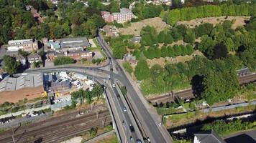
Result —
<path fill-rule="evenodd" d="M 252 139 L 252 137 L 248 136 L 247 134 L 240 134 L 235 137 L 230 137 L 228 139 L 225 139 L 227 143 L 256 143 L 255 139 Z"/>

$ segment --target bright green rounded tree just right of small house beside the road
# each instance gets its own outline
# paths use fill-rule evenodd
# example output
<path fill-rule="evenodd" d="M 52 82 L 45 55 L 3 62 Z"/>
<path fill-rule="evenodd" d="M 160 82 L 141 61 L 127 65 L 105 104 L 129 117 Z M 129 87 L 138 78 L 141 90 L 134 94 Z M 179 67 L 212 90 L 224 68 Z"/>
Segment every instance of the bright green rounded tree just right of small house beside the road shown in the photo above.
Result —
<path fill-rule="evenodd" d="M 137 80 L 143 80 L 150 77 L 150 68 L 145 59 L 140 59 L 135 67 L 134 75 Z"/>

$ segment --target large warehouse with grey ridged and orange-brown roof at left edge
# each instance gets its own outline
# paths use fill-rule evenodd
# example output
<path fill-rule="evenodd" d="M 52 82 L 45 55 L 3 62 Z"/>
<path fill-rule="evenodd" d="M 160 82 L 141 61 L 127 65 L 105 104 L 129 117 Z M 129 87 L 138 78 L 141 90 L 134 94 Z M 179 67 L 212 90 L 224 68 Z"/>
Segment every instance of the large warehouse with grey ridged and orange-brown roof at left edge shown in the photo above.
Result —
<path fill-rule="evenodd" d="M 42 73 L 6 77 L 0 82 L 0 104 L 4 102 L 19 102 L 24 98 L 43 97 L 43 93 Z"/>

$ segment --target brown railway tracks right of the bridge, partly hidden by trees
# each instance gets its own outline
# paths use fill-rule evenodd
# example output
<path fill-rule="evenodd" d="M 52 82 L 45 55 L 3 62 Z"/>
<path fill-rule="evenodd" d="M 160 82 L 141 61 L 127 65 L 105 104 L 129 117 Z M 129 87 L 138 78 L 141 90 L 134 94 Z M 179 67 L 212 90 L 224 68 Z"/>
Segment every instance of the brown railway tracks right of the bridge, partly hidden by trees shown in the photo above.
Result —
<path fill-rule="evenodd" d="M 244 77 L 239 77 L 239 84 L 247 84 L 250 82 L 255 82 L 256 81 L 256 74 L 250 74 Z M 175 98 L 180 98 L 180 99 L 193 99 L 195 98 L 195 95 L 193 94 L 192 89 L 186 89 L 181 92 L 175 92 L 175 93 L 170 93 L 170 94 L 165 94 L 160 97 L 154 97 L 151 99 L 148 99 L 148 102 L 153 103 L 153 104 L 160 104 L 160 103 L 166 103 L 166 102 L 173 102 Z"/>

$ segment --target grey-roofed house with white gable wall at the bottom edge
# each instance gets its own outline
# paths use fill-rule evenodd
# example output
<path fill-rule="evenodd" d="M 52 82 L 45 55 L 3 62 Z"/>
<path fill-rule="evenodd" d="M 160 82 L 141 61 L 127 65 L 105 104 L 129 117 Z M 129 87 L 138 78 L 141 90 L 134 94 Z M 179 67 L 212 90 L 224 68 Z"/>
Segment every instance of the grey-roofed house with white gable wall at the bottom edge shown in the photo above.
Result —
<path fill-rule="evenodd" d="M 193 143 L 227 143 L 213 129 L 201 134 L 194 134 Z"/>

